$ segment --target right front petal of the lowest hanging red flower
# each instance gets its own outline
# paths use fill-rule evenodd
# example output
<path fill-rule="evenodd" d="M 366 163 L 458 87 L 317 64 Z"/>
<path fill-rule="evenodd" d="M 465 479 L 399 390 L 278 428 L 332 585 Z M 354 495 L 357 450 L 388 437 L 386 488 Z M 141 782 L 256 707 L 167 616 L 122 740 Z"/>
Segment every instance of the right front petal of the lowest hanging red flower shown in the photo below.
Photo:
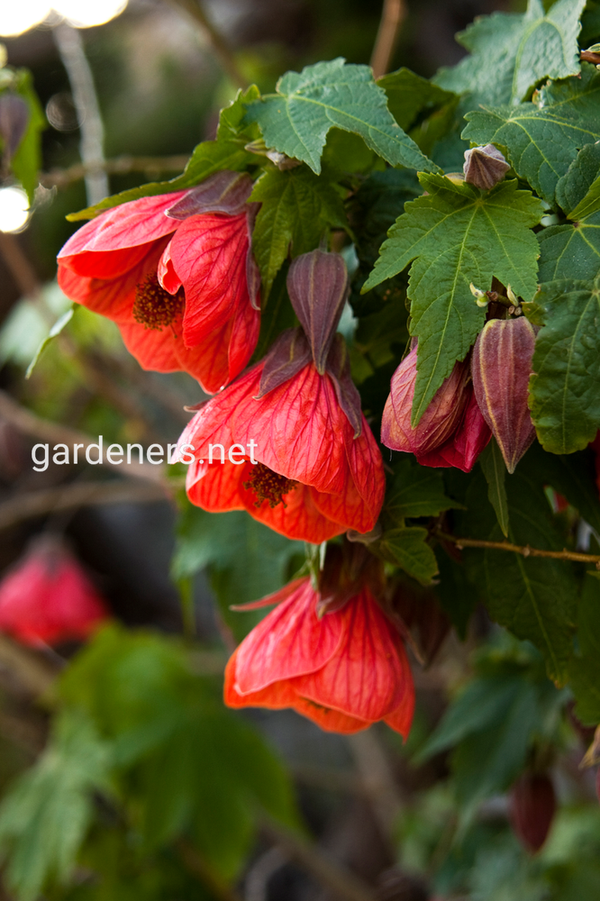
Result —
<path fill-rule="evenodd" d="M 330 616 L 343 622 L 340 647 L 325 666 L 302 678 L 298 693 L 370 722 L 392 714 L 409 690 L 395 626 L 366 588 Z"/>

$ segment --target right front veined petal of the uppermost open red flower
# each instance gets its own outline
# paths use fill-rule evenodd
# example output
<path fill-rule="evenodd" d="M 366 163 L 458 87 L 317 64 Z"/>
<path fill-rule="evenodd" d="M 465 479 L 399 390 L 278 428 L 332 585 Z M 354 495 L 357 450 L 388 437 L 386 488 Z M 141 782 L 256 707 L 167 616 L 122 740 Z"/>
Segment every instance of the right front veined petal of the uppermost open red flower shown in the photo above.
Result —
<path fill-rule="evenodd" d="M 205 213 L 180 224 L 170 245 L 170 258 L 186 291 L 184 341 L 192 347 L 248 300 L 246 255 L 248 220 Z"/>

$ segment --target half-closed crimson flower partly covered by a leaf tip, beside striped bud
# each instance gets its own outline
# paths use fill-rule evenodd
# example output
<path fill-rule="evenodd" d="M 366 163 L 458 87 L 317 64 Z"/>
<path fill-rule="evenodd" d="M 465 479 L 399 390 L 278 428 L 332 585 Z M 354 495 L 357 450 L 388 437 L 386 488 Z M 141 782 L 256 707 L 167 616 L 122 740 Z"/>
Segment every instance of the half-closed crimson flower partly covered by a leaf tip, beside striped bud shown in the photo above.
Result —
<path fill-rule="evenodd" d="M 455 364 L 413 428 L 416 360 L 414 347 L 392 376 L 381 441 L 393 451 L 414 453 L 422 466 L 454 466 L 469 472 L 492 433 L 477 406 L 468 360 Z"/>

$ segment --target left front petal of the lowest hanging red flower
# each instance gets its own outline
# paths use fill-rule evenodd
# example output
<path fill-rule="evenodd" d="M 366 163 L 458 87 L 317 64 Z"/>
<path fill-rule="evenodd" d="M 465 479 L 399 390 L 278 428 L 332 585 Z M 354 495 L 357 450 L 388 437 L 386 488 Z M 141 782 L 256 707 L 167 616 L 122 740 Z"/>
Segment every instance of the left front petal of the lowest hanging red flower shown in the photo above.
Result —
<path fill-rule="evenodd" d="M 235 689 L 240 695 L 321 669 L 341 642 L 342 622 L 316 614 L 317 596 L 305 578 L 265 616 L 236 651 Z"/>

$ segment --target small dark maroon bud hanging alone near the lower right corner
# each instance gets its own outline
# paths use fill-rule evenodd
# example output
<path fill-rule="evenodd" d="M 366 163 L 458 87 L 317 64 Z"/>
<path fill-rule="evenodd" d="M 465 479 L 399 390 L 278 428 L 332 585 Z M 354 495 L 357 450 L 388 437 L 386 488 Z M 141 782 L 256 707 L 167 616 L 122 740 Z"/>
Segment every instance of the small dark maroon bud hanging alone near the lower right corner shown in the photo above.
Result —
<path fill-rule="evenodd" d="M 510 820 L 523 847 L 535 854 L 546 841 L 556 811 L 550 778 L 526 774 L 517 779 L 510 793 Z"/>

